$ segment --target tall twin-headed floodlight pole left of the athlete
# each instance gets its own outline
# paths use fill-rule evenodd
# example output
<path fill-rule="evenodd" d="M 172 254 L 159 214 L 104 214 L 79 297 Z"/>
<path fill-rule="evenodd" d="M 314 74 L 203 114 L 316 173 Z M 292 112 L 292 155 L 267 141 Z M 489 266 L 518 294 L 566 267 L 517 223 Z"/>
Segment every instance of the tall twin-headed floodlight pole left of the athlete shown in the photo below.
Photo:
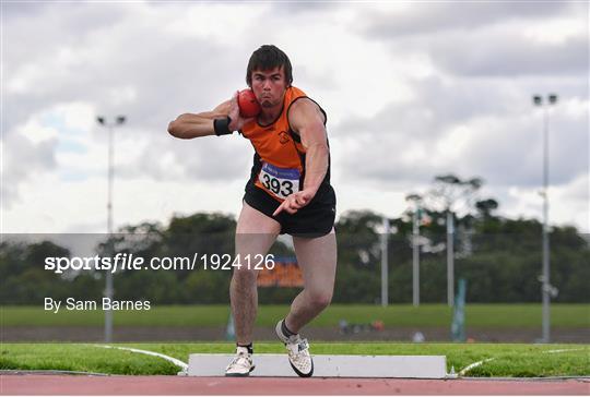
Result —
<path fill-rule="evenodd" d="M 107 171 L 107 179 L 108 179 L 108 192 L 107 192 L 107 233 L 108 233 L 108 241 L 110 241 L 113 237 L 113 180 L 115 177 L 114 171 L 114 155 L 115 155 L 115 140 L 114 140 L 114 129 L 117 125 L 121 125 L 125 123 L 126 117 L 125 116 L 118 116 L 115 119 L 115 122 L 107 122 L 105 117 L 98 116 L 96 118 L 96 121 L 102 127 L 106 127 L 108 130 L 108 171 Z M 109 255 L 114 254 L 113 252 L 109 252 Z M 113 300 L 113 273 L 110 270 L 106 270 L 106 277 L 105 277 L 106 286 L 105 286 L 105 298 L 108 298 L 109 300 Z M 105 310 L 105 342 L 113 341 L 113 311 L 110 309 Z"/>

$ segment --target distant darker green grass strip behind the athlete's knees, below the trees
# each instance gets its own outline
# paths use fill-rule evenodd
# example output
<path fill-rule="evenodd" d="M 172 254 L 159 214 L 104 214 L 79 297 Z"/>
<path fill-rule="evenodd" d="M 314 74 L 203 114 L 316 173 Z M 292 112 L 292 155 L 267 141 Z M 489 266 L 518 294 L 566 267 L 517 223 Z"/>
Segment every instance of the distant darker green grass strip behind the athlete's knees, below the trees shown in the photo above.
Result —
<path fill-rule="evenodd" d="M 261 305 L 258 326 L 274 326 L 276 318 L 287 313 L 287 305 Z M 115 324 L 121 326 L 224 326 L 228 305 L 153 306 L 146 312 L 116 312 Z M 310 325 L 333 327 L 341 318 L 350 323 L 370 323 L 381 320 L 387 326 L 448 327 L 452 317 L 446 304 L 392 304 L 388 308 L 369 304 L 332 304 Z M 66 311 L 54 314 L 43 306 L 1 306 L 2 326 L 102 326 L 102 311 Z M 590 304 L 551 305 L 554 327 L 590 328 Z M 465 324 L 481 328 L 534 328 L 541 324 L 540 304 L 468 304 Z"/>

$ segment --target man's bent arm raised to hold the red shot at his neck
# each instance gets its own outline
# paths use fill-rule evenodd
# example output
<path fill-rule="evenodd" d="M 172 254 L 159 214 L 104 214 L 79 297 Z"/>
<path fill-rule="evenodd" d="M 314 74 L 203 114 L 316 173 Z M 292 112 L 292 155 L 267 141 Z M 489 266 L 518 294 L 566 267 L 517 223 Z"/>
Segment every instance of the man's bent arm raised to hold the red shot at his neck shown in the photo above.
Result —
<path fill-rule="evenodd" d="M 219 105 L 213 111 L 204 111 L 202 113 L 184 113 L 168 124 L 170 135 L 190 140 L 199 136 L 215 135 L 215 120 L 229 117 L 229 124 L 225 124 L 227 130 L 236 131 L 249 120 L 239 116 L 239 107 L 237 104 L 237 93 L 232 99 Z M 227 132 L 225 132 L 227 133 Z"/>

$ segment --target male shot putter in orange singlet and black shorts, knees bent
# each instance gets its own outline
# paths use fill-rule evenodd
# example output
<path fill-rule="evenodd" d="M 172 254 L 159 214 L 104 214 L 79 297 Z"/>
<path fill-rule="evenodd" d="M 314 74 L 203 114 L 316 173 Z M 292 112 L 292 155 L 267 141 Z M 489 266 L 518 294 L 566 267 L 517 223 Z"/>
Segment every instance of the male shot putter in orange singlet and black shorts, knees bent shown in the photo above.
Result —
<path fill-rule="evenodd" d="M 293 370 L 307 377 L 314 373 L 314 362 L 299 330 L 330 304 L 337 268 L 335 194 L 330 185 L 326 112 L 291 85 L 291 61 L 275 46 L 266 45 L 252 53 L 246 82 L 260 104 L 258 117 L 240 117 L 235 94 L 213 111 L 179 116 L 168 132 L 192 139 L 238 131 L 250 140 L 255 157 L 236 227 L 236 255 L 266 255 L 279 234 L 293 236 L 304 289 L 275 330 Z M 255 368 L 258 270 L 240 263 L 229 287 L 237 347 L 226 376 L 248 376 Z"/>

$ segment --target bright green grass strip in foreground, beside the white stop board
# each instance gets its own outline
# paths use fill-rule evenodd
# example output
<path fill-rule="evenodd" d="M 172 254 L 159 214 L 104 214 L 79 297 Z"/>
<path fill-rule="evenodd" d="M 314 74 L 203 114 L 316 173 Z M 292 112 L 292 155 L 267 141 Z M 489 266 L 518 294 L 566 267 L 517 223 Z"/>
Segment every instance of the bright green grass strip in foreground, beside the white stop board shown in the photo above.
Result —
<path fill-rule="evenodd" d="M 113 344 L 174 357 L 184 362 L 189 353 L 229 353 L 232 344 Z M 256 352 L 284 352 L 280 344 L 256 344 Z M 428 354 L 446 356 L 447 372 L 493 359 L 465 376 L 589 376 L 588 345 L 520 344 L 314 344 L 315 354 Z M 285 357 L 286 360 L 286 357 Z M 178 368 L 156 357 L 88 344 L 2 344 L 2 370 L 62 370 L 108 374 L 174 375 Z"/>

